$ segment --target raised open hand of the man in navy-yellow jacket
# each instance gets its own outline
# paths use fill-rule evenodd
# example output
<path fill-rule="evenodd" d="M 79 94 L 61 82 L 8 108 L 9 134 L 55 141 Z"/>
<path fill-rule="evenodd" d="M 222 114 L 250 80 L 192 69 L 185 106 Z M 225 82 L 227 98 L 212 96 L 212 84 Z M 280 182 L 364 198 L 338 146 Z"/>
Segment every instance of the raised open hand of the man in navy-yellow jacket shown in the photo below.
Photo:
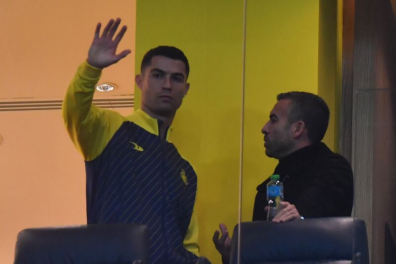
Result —
<path fill-rule="evenodd" d="M 123 26 L 113 40 L 114 34 L 117 31 L 120 22 L 120 18 L 117 18 L 115 21 L 114 19 L 110 19 L 106 27 L 103 29 L 101 37 L 99 37 L 101 24 L 98 23 L 95 30 L 94 41 L 92 42 L 90 50 L 88 51 L 87 62 L 90 65 L 102 69 L 116 63 L 131 53 L 131 50 L 125 50 L 121 53 L 115 54 L 118 43 L 120 43 L 125 31 L 127 30 L 127 26 Z"/>

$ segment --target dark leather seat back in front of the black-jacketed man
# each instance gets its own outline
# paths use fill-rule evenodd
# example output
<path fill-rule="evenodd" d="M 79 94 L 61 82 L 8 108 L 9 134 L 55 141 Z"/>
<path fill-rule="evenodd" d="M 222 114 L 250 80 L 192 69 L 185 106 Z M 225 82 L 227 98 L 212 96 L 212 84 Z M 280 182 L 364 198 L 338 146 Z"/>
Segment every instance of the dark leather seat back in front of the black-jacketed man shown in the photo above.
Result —
<path fill-rule="evenodd" d="M 237 263 L 238 225 L 231 244 Z M 241 223 L 241 264 L 369 264 L 366 226 L 352 217 Z"/>

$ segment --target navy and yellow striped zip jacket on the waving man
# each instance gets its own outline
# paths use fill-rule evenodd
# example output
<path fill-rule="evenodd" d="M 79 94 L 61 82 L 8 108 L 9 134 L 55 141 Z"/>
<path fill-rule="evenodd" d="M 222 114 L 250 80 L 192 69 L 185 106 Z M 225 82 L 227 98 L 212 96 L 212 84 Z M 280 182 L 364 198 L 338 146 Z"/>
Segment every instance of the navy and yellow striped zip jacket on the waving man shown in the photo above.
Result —
<path fill-rule="evenodd" d="M 101 70 L 80 65 L 63 101 L 69 135 L 85 159 L 88 223 L 136 222 L 150 230 L 150 263 L 195 263 L 197 175 L 143 110 L 92 104 Z"/>

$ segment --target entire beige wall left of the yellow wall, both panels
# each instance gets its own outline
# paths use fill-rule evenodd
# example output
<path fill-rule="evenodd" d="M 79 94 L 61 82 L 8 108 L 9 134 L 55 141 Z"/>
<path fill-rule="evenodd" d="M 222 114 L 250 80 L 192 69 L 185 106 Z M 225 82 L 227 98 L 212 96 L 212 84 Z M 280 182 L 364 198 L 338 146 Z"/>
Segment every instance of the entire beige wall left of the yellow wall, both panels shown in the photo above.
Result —
<path fill-rule="evenodd" d="M 60 110 L 4 111 L 1 106 L 62 100 L 99 21 L 120 16 L 128 25 L 120 49 L 134 50 L 136 11 L 133 0 L 5 0 L 0 5 L 0 263 L 12 263 L 21 229 L 86 223 L 85 169 Z M 96 97 L 131 98 L 133 79 L 131 54 L 101 78 L 119 89 Z"/>

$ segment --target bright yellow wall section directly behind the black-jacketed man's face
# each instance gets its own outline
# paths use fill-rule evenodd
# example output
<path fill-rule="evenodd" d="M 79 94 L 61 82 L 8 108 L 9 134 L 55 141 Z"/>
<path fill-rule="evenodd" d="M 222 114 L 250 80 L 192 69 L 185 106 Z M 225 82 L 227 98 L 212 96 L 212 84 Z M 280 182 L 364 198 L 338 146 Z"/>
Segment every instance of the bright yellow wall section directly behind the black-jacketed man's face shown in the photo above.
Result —
<path fill-rule="evenodd" d="M 318 91 L 319 2 L 247 3 L 242 221 L 251 220 L 255 189 L 278 163 L 265 156 L 261 134 L 277 94 Z"/>

